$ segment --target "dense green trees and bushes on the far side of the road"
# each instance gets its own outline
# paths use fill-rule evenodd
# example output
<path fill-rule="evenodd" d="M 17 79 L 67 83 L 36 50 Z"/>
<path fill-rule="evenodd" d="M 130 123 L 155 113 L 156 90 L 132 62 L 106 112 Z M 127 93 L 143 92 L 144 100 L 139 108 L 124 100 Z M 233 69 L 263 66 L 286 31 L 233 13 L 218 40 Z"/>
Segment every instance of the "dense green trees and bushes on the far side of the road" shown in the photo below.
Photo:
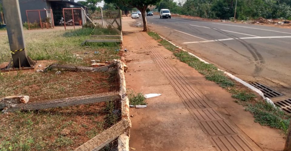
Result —
<path fill-rule="evenodd" d="M 202 18 L 230 19 L 234 17 L 236 0 L 162 0 L 157 9 L 170 9 L 172 13 Z M 291 20 L 290 0 L 237 0 L 236 18 L 239 20 L 259 17 Z"/>

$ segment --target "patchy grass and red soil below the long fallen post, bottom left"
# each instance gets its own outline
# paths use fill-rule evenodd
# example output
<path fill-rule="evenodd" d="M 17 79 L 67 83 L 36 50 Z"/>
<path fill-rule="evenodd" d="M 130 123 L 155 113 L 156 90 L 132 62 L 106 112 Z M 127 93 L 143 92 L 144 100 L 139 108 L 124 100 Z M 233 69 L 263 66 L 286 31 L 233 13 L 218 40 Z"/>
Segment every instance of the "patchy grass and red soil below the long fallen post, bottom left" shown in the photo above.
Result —
<path fill-rule="evenodd" d="M 0 150 L 72 150 L 108 128 L 105 103 L 0 113 Z M 86 128 L 84 128 L 86 124 Z M 63 134 L 66 129 L 69 133 Z"/>

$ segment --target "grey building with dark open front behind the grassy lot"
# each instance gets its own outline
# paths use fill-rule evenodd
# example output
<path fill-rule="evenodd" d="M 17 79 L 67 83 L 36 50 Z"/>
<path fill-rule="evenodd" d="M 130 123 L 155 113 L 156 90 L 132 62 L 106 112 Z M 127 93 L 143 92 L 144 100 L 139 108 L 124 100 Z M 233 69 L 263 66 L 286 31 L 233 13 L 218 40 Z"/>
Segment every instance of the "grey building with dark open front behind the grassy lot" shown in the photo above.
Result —
<path fill-rule="evenodd" d="M 33 23 L 35 21 L 39 22 L 39 16 L 41 19 L 45 17 L 51 17 L 49 11 L 31 11 L 26 14 L 27 10 L 45 10 L 45 9 L 52 9 L 52 14 L 54 18 L 54 23 L 57 25 L 60 19 L 63 17 L 63 8 L 84 8 L 85 11 L 88 11 L 88 8 L 84 5 L 74 2 L 74 0 L 18 0 L 19 8 L 21 13 L 22 22 L 29 22 Z M 78 13 L 78 12 L 77 12 Z M 81 13 L 78 13 L 81 15 Z M 4 14 L 5 16 L 5 14 Z M 74 14 L 75 16 L 75 14 Z M 0 18 L 1 21 L 1 18 Z"/>

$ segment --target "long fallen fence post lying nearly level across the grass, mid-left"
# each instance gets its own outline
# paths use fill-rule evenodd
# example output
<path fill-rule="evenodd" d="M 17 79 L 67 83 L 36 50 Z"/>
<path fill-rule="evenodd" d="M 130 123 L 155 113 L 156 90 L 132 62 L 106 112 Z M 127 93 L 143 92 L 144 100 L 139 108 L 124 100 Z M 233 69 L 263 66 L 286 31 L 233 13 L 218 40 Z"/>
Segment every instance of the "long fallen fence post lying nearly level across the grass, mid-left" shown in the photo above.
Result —
<path fill-rule="evenodd" d="M 10 108 L 6 109 L 5 111 L 28 111 L 28 110 L 39 110 L 39 109 L 47 109 L 47 108 L 58 108 L 58 107 L 65 107 L 65 106 L 74 106 L 74 105 L 81 105 L 81 104 L 92 104 L 98 102 L 105 102 L 105 101 L 113 101 L 115 99 L 119 99 L 120 96 L 116 92 L 109 92 L 109 93 L 101 93 L 95 95 L 85 95 L 85 96 L 78 96 L 72 98 L 63 98 L 63 99 L 56 99 L 50 101 L 38 101 L 38 102 L 28 102 L 28 103 L 21 103 L 11 105 Z"/>

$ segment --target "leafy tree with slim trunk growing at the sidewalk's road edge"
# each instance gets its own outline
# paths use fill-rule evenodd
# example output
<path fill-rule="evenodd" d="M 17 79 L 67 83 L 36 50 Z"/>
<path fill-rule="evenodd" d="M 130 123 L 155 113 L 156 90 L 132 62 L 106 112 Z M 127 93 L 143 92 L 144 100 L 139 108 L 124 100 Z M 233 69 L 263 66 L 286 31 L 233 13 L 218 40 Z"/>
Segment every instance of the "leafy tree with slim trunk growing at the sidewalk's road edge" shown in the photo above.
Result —
<path fill-rule="evenodd" d="M 114 3 L 117 6 L 123 5 L 129 8 L 137 8 L 142 14 L 143 31 L 147 31 L 146 9 L 149 5 L 156 5 L 161 0 L 104 0 L 105 3 Z"/>

